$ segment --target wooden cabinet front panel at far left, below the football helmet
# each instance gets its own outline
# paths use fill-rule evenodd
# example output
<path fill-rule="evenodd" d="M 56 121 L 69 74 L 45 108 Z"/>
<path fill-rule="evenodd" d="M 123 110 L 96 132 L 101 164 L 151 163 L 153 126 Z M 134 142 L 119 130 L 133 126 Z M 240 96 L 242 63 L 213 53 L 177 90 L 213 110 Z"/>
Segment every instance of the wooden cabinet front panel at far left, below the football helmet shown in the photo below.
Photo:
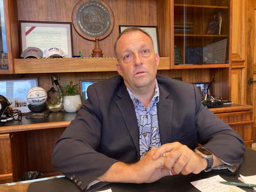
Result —
<path fill-rule="evenodd" d="M 6 173 L 12 173 L 11 142 L 9 134 L 0 134 L 0 174 Z"/>

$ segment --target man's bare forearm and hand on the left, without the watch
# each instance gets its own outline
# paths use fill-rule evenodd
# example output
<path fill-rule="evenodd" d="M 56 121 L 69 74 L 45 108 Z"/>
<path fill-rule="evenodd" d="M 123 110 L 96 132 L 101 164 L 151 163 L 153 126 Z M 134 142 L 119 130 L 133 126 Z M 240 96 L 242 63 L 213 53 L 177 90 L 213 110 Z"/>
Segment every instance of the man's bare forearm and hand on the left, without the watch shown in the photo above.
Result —
<path fill-rule="evenodd" d="M 134 164 L 122 162 L 114 163 L 104 175 L 97 180 L 107 182 L 131 182 L 150 183 L 159 180 L 161 177 L 170 175 L 164 166 L 165 157 L 153 160 L 152 156 L 156 149 L 150 150 L 140 161 Z"/>

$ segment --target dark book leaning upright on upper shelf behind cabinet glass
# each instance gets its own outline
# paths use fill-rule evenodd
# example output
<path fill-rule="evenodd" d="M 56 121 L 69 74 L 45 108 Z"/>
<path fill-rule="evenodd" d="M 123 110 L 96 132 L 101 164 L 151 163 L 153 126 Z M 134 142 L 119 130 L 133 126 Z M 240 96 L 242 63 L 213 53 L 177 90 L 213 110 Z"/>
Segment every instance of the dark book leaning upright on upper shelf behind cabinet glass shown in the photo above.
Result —
<path fill-rule="evenodd" d="M 221 12 L 214 13 L 209 19 L 206 34 L 220 35 L 221 23 L 222 23 Z"/>

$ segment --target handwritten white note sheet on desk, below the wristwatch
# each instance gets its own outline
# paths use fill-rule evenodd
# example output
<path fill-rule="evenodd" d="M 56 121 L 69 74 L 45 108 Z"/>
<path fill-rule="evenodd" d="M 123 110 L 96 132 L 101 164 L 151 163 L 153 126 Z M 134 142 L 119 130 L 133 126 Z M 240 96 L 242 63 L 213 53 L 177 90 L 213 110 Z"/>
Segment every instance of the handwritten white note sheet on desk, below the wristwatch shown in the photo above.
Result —
<path fill-rule="evenodd" d="M 237 186 L 221 184 L 219 181 L 226 181 L 219 175 L 206 179 L 191 182 L 198 190 L 202 192 L 245 192 Z"/>

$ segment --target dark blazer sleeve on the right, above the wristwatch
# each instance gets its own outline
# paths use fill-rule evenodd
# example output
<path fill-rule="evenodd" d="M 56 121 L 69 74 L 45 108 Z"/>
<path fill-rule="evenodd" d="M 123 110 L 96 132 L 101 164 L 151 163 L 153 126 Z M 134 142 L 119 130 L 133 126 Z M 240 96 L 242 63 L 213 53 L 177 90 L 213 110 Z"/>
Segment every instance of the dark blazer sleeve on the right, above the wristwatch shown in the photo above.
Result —
<path fill-rule="evenodd" d="M 201 104 L 200 92 L 196 86 L 194 89 L 198 142 L 223 161 L 239 167 L 245 152 L 243 139 L 229 125 Z"/>

